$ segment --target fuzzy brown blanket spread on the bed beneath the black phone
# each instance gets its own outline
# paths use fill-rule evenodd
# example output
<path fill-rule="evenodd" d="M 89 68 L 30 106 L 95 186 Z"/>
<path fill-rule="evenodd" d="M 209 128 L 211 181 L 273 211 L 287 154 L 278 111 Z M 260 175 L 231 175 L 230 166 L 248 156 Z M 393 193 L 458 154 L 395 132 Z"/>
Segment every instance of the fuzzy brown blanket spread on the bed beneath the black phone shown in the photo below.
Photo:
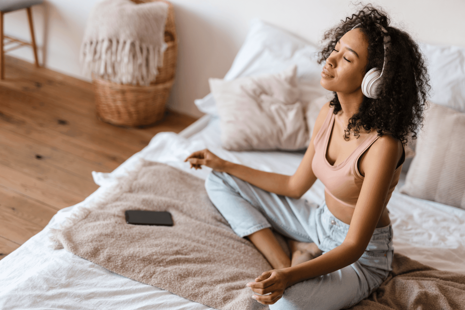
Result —
<path fill-rule="evenodd" d="M 169 211 L 174 226 L 126 224 L 128 209 Z M 60 230 L 57 248 L 213 308 L 267 309 L 245 285 L 271 266 L 210 202 L 204 181 L 143 162 Z M 354 309 L 461 309 L 465 276 L 395 256 L 392 275 Z M 427 308 L 430 307 L 430 308 Z"/>

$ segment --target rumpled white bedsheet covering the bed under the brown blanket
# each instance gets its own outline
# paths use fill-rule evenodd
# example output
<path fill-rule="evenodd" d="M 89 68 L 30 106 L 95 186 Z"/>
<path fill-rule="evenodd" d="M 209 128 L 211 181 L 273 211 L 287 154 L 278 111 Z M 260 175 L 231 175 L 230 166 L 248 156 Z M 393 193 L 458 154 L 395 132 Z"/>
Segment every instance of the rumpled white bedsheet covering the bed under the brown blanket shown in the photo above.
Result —
<path fill-rule="evenodd" d="M 157 134 L 146 148 L 112 173 L 94 173 L 94 180 L 101 185 L 96 192 L 84 202 L 59 211 L 43 231 L 0 261 L 0 309 L 212 309 L 114 274 L 63 249 L 53 250 L 48 239 L 50 228 L 59 227 L 81 206 L 101 198 L 114 178 L 134 169 L 140 158 L 166 163 L 199 178 L 206 178 L 210 169 L 190 170 L 183 160 L 203 148 L 226 160 L 264 171 L 290 175 L 297 169 L 302 153 L 221 149 L 217 118 L 197 132 L 208 118 L 200 119 L 182 135 Z M 196 133 L 184 138 L 193 132 Z M 323 184 L 317 180 L 304 196 L 320 202 L 323 190 Z M 465 210 L 408 197 L 397 189 L 388 208 L 395 251 L 441 270 L 465 274 Z"/>

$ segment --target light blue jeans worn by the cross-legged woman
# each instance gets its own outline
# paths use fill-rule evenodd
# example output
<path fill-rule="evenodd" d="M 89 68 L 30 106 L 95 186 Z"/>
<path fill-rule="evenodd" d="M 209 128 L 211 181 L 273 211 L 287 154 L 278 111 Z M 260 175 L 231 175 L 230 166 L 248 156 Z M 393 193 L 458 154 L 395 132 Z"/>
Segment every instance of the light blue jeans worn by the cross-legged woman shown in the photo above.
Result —
<path fill-rule="evenodd" d="M 325 201 L 316 204 L 277 195 L 226 172 L 212 171 L 205 187 L 213 204 L 240 237 L 272 228 L 294 240 L 314 242 L 325 253 L 341 244 L 349 230 L 348 224 L 332 215 Z M 383 282 L 392 270 L 392 256 L 392 226 L 376 228 L 357 262 L 292 285 L 270 309 L 349 308 Z"/>

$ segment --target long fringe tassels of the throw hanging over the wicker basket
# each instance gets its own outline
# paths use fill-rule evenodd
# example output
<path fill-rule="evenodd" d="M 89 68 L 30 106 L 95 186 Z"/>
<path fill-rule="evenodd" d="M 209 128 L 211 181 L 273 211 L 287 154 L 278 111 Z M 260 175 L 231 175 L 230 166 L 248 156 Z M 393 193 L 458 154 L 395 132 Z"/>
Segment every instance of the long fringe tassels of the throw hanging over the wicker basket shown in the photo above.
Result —
<path fill-rule="evenodd" d="M 94 73 L 115 83 L 150 85 L 157 78 L 157 67 L 163 66 L 166 47 L 165 42 L 156 47 L 116 38 L 83 42 L 82 71 L 86 76 Z"/>

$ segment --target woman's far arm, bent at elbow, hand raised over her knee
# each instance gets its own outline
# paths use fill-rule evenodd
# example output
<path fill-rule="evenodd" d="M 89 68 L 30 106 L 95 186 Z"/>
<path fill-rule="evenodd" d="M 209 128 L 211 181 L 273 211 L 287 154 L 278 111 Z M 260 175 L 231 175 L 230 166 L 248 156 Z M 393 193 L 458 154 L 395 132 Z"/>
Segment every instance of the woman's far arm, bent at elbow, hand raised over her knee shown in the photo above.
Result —
<path fill-rule="evenodd" d="M 217 157 L 207 149 L 193 152 L 184 161 L 188 160 L 191 163 L 191 168 L 194 167 L 197 169 L 200 165 L 206 165 L 213 168 L 213 170 L 227 172 L 265 191 L 292 198 L 300 198 L 317 179 L 312 171 L 312 160 L 315 154 L 313 140 L 325 121 L 328 111 L 329 102 L 321 108 L 313 128 L 310 144 L 299 167 L 292 176 L 260 171 L 244 165 L 234 164 Z"/>

